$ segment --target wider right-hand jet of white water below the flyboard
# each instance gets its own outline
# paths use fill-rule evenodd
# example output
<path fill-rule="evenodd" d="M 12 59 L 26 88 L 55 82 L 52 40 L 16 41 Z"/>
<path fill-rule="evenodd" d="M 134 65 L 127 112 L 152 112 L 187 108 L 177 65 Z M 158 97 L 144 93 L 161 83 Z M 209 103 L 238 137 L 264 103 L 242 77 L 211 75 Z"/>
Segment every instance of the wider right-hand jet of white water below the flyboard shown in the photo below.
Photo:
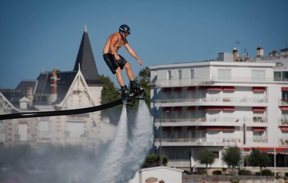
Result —
<path fill-rule="evenodd" d="M 128 182 L 141 168 L 153 145 L 153 120 L 144 100 L 140 100 L 136 125 L 132 130 L 132 141 L 128 142 L 126 155 L 117 182 Z"/>

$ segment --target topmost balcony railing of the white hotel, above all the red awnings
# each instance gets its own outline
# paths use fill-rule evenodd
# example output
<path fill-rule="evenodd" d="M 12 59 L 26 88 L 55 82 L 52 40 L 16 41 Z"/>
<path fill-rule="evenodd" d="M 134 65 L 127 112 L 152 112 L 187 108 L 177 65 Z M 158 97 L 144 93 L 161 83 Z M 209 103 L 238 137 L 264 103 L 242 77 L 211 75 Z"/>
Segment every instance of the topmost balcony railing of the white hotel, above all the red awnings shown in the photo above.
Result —
<path fill-rule="evenodd" d="M 209 78 L 193 78 L 193 79 L 164 79 L 156 80 L 156 87 L 171 87 L 171 86 L 197 86 L 209 85 L 214 81 L 252 81 L 252 82 L 273 82 L 273 81 L 288 81 L 288 78 L 254 78 L 254 77 L 217 77 Z"/>

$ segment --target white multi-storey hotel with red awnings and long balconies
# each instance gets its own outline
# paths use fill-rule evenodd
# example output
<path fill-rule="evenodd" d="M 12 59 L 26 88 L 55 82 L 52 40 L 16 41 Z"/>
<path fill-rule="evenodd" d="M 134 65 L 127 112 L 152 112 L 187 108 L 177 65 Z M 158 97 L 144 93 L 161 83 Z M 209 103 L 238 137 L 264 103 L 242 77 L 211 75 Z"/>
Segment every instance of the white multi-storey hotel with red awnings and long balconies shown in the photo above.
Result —
<path fill-rule="evenodd" d="M 279 59 L 233 62 L 228 56 L 149 67 L 155 153 L 161 146 L 171 167 L 205 167 L 197 160 L 206 147 L 216 155 L 211 167 L 224 168 L 226 146 L 271 152 L 275 145 L 276 166 L 287 167 L 288 68 Z"/>

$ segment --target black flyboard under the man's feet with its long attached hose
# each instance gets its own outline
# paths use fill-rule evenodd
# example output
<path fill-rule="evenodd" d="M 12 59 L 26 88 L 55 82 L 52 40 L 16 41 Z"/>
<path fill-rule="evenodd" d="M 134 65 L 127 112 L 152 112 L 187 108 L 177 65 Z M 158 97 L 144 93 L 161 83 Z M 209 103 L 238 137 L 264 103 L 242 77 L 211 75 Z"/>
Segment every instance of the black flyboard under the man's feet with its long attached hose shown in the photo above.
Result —
<path fill-rule="evenodd" d="M 31 113 L 15 113 L 15 114 L 5 114 L 0 115 L 0 120 L 4 119 L 18 119 L 18 118 L 32 118 L 32 117 L 46 117 L 46 116 L 63 116 L 63 115 L 75 115 L 75 114 L 83 114 L 83 113 L 91 113 L 99 110 L 105 110 L 111 107 L 118 106 L 122 104 L 125 106 L 133 107 L 135 104 L 135 100 L 141 99 L 144 100 L 146 97 L 146 93 L 143 91 L 135 91 L 132 97 L 122 97 L 113 102 L 109 102 L 107 104 L 102 104 L 94 107 L 80 108 L 80 109 L 70 109 L 70 110 L 55 110 L 55 111 L 42 111 L 42 112 L 31 112 Z"/>

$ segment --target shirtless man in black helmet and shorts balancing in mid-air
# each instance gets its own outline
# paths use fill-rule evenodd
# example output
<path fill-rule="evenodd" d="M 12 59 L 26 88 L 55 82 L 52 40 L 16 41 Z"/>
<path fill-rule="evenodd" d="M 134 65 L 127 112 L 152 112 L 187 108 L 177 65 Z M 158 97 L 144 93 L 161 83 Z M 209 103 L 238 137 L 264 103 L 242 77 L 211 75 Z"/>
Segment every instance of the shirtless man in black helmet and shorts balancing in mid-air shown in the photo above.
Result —
<path fill-rule="evenodd" d="M 141 60 L 138 58 L 134 50 L 129 46 L 126 37 L 130 34 L 130 28 L 127 25 L 121 25 L 118 33 L 113 33 L 109 36 L 106 41 L 105 47 L 103 49 L 103 58 L 110 68 L 113 74 L 116 73 L 117 81 L 121 86 L 121 95 L 122 97 L 133 97 L 133 92 L 131 91 L 144 91 L 143 87 L 137 85 L 134 80 L 133 72 L 131 65 L 117 52 L 119 48 L 124 45 L 130 55 L 138 60 L 138 63 L 142 66 Z M 130 80 L 130 90 L 127 89 L 127 86 L 124 85 L 122 78 L 121 69 L 126 68 L 127 76 Z"/>

